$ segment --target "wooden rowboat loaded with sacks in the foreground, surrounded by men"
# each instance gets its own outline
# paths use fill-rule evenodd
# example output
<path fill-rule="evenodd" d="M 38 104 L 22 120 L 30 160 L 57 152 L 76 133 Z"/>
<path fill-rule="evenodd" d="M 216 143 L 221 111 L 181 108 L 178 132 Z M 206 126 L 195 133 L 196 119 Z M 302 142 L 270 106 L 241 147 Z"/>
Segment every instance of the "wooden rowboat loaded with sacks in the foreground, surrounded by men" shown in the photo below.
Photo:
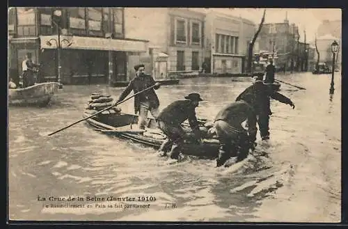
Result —
<path fill-rule="evenodd" d="M 112 111 L 112 110 L 111 110 Z M 138 116 L 129 113 L 117 113 L 115 111 L 104 111 L 103 113 L 88 118 L 86 123 L 95 127 L 95 130 L 103 134 L 116 136 L 120 139 L 128 139 L 135 143 L 159 148 L 166 136 L 157 128 L 157 122 L 153 118 L 148 118 L 145 130 L 138 129 L 136 123 Z M 97 111 L 85 109 L 84 118 Z M 200 120 L 200 125 L 204 125 L 205 120 Z M 189 124 L 183 123 L 184 130 L 189 132 Z M 193 155 L 203 158 L 216 158 L 219 150 L 219 141 L 216 139 L 204 140 L 202 145 L 198 145 L 189 137 L 185 139 L 182 153 L 184 155 Z"/>

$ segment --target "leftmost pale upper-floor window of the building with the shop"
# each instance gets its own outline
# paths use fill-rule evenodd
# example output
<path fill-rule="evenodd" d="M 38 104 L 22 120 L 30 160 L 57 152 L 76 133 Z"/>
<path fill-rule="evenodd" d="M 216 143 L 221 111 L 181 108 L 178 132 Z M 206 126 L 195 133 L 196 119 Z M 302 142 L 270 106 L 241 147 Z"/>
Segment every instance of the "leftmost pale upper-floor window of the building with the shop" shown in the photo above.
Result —
<path fill-rule="evenodd" d="M 18 24 L 17 33 L 19 36 L 36 35 L 34 8 L 18 7 L 17 8 L 17 24 Z"/>

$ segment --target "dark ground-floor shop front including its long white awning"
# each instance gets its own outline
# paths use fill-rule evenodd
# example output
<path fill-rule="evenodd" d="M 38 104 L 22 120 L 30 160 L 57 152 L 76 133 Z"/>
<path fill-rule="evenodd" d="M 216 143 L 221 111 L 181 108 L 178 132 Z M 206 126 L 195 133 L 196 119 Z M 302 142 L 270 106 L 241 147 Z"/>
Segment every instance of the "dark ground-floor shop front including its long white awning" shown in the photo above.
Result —
<path fill-rule="evenodd" d="M 57 35 L 40 36 L 40 64 L 47 81 L 58 77 Z M 122 40 L 61 36 L 71 42 L 61 44 L 61 81 L 63 84 L 102 84 L 109 79 L 109 61 L 112 63 L 111 81 L 127 80 L 127 54 L 147 52 L 143 40 Z M 49 42 L 51 41 L 51 42 Z M 111 52 L 111 60 L 109 60 Z"/>

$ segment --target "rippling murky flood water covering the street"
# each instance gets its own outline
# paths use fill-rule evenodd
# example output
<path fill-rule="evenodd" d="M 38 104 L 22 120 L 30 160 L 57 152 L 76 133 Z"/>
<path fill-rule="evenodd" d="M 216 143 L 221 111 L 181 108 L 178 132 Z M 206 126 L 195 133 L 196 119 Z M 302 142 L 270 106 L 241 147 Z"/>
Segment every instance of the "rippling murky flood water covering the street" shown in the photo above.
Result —
<path fill-rule="evenodd" d="M 281 93 L 296 108 L 271 102 L 271 140 L 262 143 L 258 135 L 257 149 L 239 168 L 215 168 L 214 160 L 194 158 L 168 164 L 152 148 L 105 136 L 84 123 L 47 136 L 79 120 L 91 93 L 117 98 L 122 88 L 65 86 L 47 108 L 10 107 L 10 219 L 338 222 L 341 84 L 336 72 L 330 101 L 330 78 L 278 77 L 307 90 L 282 84 Z M 198 92 L 205 100 L 198 116 L 211 119 L 250 84 L 183 79 L 157 94 L 162 109 Z M 122 111 L 133 112 L 133 101 L 121 104 Z"/>

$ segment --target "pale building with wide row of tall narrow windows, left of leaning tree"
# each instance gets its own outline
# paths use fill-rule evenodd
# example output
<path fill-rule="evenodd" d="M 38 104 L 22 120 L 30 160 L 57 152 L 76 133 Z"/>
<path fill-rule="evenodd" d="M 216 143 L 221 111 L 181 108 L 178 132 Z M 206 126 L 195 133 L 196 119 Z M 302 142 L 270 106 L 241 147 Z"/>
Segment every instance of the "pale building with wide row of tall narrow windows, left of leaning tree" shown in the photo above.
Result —
<path fill-rule="evenodd" d="M 212 73 L 244 72 L 255 24 L 211 10 L 205 17 L 205 61 Z"/>

